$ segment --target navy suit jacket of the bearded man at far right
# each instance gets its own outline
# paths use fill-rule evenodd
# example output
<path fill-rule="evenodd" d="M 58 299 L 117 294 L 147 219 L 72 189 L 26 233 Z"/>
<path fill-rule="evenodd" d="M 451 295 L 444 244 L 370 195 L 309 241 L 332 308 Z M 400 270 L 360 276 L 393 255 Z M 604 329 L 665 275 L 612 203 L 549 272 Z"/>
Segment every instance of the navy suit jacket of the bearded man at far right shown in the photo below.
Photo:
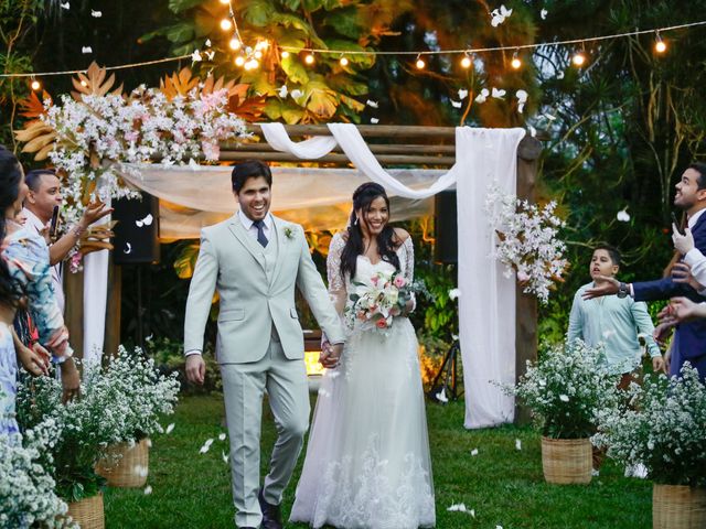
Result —
<path fill-rule="evenodd" d="M 700 215 L 692 228 L 692 235 L 694 235 L 696 248 L 706 252 L 706 213 Z M 675 295 L 683 295 L 696 302 L 705 301 L 688 284 L 675 283 L 672 278 L 632 283 L 632 288 L 635 301 L 668 300 Z M 682 360 L 694 364 L 695 359 L 706 356 L 706 320 L 682 323 L 676 333 L 675 346 L 678 347 Z"/>

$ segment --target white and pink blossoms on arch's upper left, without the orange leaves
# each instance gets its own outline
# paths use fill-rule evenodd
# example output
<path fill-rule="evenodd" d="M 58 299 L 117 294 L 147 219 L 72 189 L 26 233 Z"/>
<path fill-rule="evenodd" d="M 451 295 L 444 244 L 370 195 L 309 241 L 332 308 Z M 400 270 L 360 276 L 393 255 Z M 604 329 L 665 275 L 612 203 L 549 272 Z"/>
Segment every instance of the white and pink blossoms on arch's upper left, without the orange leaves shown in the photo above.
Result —
<path fill-rule="evenodd" d="M 76 101 L 64 95 L 61 105 L 46 101 L 42 120 L 56 131 L 49 158 L 64 175 L 64 218 L 78 222 L 92 195 L 139 197 L 120 179 L 126 163 L 188 163 L 217 161 L 218 143 L 247 136 L 245 121 L 227 110 L 226 89 L 168 99 L 156 88 L 140 86 L 129 97 L 85 95 Z M 133 171 L 133 170 L 132 170 Z"/>

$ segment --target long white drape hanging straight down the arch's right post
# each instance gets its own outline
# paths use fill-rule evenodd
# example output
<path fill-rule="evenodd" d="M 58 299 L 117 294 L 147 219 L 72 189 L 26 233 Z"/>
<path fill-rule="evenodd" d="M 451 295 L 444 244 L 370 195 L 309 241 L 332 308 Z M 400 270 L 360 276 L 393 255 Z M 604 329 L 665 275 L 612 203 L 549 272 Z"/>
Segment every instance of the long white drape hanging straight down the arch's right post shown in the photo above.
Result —
<path fill-rule="evenodd" d="M 522 129 L 457 129 L 459 225 L 459 321 L 466 428 L 484 428 L 514 418 L 514 398 L 493 382 L 515 384 L 515 280 L 489 259 L 495 234 L 484 212 L 488 186 L 515 193 Z M 464 145 L 459 148 L 459 145 Z"/>

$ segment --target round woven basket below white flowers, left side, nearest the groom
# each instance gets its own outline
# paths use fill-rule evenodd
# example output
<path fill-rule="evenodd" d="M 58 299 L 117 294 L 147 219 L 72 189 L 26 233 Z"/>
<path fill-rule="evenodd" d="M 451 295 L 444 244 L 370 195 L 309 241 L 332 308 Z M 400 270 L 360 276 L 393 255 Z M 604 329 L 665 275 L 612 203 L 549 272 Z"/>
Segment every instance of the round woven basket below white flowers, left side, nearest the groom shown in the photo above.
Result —
<path fill-rule="evenodd" d="M 117 458 L 118 455 L 121 457 Z M 108 456 L 96 463 L 96 474 L 105 477 L 110 487 L 138 488 L 147 483 L 150 449 L 147 439 L 130 447 L 128 443 L 108 449 Z"/>

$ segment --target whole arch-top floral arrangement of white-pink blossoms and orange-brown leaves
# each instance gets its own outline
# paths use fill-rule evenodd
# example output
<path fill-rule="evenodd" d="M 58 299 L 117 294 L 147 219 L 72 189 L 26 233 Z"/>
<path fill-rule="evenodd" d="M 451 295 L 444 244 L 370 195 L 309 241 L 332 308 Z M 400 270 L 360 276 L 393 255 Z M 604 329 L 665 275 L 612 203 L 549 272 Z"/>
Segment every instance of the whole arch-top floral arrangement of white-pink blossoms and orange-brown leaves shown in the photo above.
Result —
<path fill-rule="evenodd" d="M 122 85 L 114 88 L 115 75 L 93 63 L 73 85 L 76 90 L 62 95 L 60 105 L 46 93 L 41 101 L 32 94 L 22 102 L 22 115 L 31 120 L 15 133 L 23 152 L 57 170 L 65 226 L 95 198 L 139 198 L 120 176 L 136 172 L 128 164 L 216 162 L 218 144 L 247 138 L 243 118 L 254 120 L 263 111 L 261 98 L 245 99 L 248 85 L 213 76 L 202 82 L 189 68 L 165 77 L 159 88 L 140 85 L 126 95 Z M 82 241 L 82 253 L 103 248 L 90 242 Z M 79 259 L 74 253 L 69 259 L 75 271 Z"/>

